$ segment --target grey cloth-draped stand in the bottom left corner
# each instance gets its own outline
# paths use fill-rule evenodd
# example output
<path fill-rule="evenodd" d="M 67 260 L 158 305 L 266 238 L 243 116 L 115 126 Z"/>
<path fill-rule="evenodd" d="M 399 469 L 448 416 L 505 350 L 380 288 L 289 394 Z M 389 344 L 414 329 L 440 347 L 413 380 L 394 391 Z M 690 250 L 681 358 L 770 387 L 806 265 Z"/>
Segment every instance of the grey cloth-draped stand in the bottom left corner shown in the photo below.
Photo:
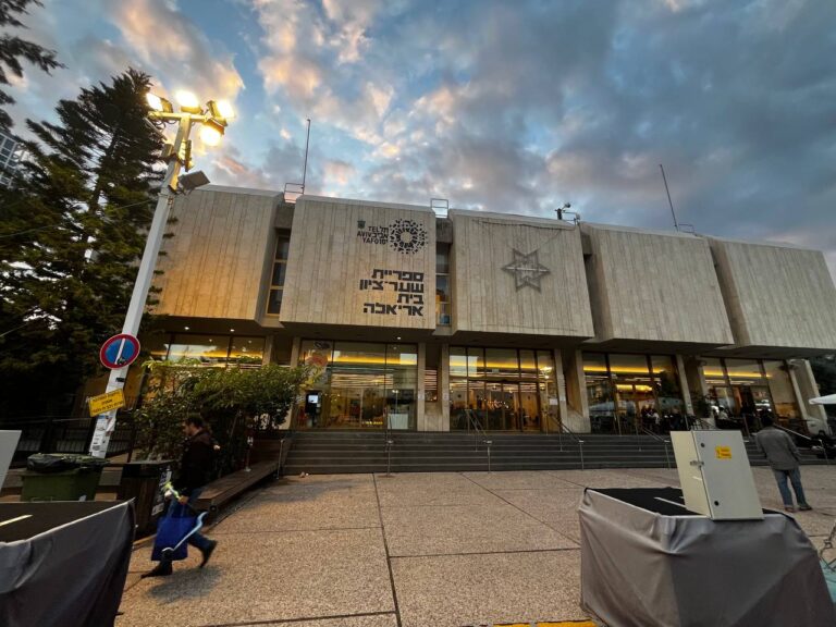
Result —
<path fill-rule="evenodd" d="M 0 625 L 113 625 L 131 561 L 133 502 L 0 504 L 3 520 L 27 513 L 32 518 L 0 527 Z M 29 533 L 10 537 L 20 526 Z"/>

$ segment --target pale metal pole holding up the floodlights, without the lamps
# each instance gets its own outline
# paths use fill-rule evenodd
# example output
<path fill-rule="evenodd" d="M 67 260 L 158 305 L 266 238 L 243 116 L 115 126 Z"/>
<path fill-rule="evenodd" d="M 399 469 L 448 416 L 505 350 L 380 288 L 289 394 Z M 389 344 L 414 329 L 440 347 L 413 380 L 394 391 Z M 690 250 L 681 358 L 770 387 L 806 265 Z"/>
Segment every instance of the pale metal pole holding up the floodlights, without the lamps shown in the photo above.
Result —
<path fill-rule="evenodd" d="M 127 314 L 125 314 L 125 322 L 122 325 L 122 333 L 136 335 L 139 331 L 139 322 L 142 321 L 145 311 L 145 302 L 148 299 L 148 291 L 150 290 L 151 281 L 153 280 L 153 269 L 157 266 L 157 258 L 160 255 L 163 235 L 165 234 L 165 225 L 169 221 L 169 208 L 174 198 L 174 193 L 170 186 L 172 182 L 176 181 L 177 174 L 180 173 L 180 149 L 181 146 L 183 146 L 183 143 L 188 139 L 190 131 L 192 116 L 188 113 L 184 113 L 180 118 L 180 125 L 174 138 L 172 157 L 169 161 L 169 167 L 165 170 L 165 177 L 162 180 L 160 196 L 157 199 L 157 207 L 153 210 L 151 228 L 148 230 L 148 238 L 145 242 L 143 259 L 139 261 L 139 270 L 136 273 L 136 282 L 134 283 L 134 291 L 131 294 L 131 304 L 127 306 Z M 125 366 L 119 370 L 110 371 L 106 392 L 121 390 L 125 386 L 127 369 L 128 367 Z M 101 423 L 102 419 L 104 420 L 103 425 Z M 106 437 L 103 443 L 96 443 L 96 434 L 94 432 L 94 438 L 90 442 L 90 455 L 96 457 L 107 457 L 108 440 L 116 426 L 116 410 L 113 409 L 107 414 L 102 414 L 98 417 L 97 422 L 99 422 L 99 425 L 97 425 L 96 429 L 103 428 Z"/>

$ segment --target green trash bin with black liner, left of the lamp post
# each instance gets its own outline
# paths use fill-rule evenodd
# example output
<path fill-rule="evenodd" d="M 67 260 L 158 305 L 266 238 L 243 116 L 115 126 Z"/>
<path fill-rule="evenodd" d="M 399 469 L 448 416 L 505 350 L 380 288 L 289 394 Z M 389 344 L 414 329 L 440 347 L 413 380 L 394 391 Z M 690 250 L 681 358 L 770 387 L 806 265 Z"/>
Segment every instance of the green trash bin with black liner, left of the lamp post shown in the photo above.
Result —
<path fill-rule="evenodd" d="M 89 455 L 30 455 L 21 501 L 93 501 L 107 464 Z"/>

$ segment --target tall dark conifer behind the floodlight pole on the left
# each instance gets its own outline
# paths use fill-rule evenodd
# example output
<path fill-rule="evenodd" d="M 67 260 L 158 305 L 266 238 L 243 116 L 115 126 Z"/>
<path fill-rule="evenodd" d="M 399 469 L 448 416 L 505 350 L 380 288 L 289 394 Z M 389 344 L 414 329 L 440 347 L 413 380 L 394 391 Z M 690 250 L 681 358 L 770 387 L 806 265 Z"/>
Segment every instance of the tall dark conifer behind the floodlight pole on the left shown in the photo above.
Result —
<path fill-rule="evenodd" d="M 99 371 L 98 347 L 121 329 L 162 174 L 149 87 L 128 70 L 62 100 L 58 123 L 27 121 L 37 140 L 26 144 L 25 180 L 0 198 L 0 333 L 13 330 L 0 337 L 7 415 L 10 397 L 33 385 L 49 402 L 40 411 L 65 411 L 62 398 Z"/>

